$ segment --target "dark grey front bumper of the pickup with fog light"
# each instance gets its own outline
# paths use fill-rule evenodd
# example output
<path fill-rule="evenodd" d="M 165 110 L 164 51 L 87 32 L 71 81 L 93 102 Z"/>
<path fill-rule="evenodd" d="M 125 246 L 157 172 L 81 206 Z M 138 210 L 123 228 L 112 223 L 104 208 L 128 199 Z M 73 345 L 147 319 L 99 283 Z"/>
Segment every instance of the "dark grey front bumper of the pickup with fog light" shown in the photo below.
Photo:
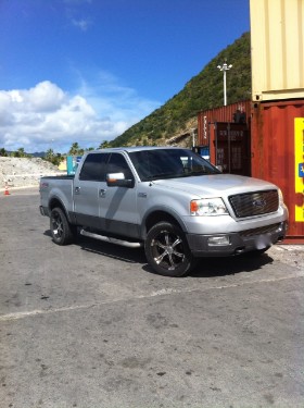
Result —
<path fill-rule="evenodd" d="M 286 234 L 287 223 L 280 222 L 237 233 L 188 234 L 187 239 L 189 248 L 195 257 L 225 257 L 268 248 L 282 240 Z M 217 237 L 219 243 L 214 244 Z M 221 244 L 220 237 L 225 238 L 228 244 Z"/>

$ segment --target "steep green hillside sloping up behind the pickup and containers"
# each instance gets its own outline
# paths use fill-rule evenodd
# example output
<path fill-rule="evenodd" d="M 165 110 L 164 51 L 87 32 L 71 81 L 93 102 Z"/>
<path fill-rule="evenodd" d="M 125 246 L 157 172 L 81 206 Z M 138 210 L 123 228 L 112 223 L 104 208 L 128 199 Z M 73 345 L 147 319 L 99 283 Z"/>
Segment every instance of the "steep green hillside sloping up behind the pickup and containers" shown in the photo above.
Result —
<path fill-rule="evenodd" d="M 185 88 L 121 136 L 111 147 L 164 145 L 166 140 L 197 126 L 199 111 L 223 106 L 223 73 L 217 65 L 227 60 L 227 100 L 233 103 L 251 97 L 250 33 L 220 51 Z"/>

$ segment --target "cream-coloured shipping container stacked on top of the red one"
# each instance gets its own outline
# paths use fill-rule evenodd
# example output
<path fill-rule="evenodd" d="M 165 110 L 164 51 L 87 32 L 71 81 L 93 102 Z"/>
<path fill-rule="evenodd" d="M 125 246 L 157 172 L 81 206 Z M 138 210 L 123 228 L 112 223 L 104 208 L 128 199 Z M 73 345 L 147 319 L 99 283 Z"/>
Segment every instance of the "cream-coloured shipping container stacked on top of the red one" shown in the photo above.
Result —
<path fill-rule="evenodd" d="M 304 98 L 304 1 L 251 0 L 252 100 Z"/>

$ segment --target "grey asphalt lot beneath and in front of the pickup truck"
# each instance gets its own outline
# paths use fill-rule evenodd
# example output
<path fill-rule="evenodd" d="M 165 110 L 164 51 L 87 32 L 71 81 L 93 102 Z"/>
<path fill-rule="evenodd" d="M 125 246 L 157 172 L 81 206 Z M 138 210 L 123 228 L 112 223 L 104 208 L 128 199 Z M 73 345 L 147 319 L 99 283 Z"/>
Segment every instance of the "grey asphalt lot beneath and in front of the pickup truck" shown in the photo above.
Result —
<path fill-rule="evenodd" d="M 0 196 L 0 407 L 304 407 L 304 246 L 154 274 Z"/>

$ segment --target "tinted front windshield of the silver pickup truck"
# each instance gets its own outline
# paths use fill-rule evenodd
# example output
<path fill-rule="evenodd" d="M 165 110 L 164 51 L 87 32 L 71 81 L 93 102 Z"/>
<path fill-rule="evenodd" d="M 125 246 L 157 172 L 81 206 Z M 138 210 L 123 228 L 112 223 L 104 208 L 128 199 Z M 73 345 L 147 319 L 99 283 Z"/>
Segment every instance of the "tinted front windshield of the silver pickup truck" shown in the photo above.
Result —
<path fill-rule="evenodd" d="M 129 157 L 142 182 L 220 173 L 188 149 L 139 150 L 130 152 Z"/>

